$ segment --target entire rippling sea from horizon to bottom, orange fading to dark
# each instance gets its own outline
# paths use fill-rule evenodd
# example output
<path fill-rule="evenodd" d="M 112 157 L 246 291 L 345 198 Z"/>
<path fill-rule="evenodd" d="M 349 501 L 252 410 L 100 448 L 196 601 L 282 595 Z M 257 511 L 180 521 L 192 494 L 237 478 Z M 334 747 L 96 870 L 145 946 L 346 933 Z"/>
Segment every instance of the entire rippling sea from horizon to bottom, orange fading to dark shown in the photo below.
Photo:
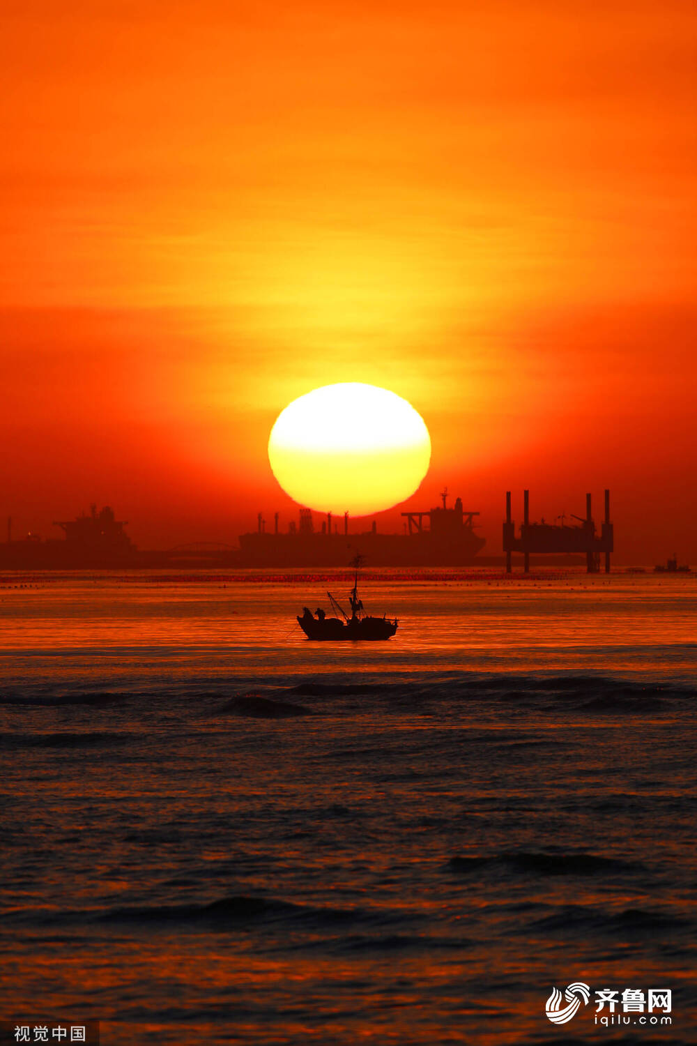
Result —
<path fill-rule="evenodd" d="M 0 577 L 1 1016 L 695 1043 L 697 579 L 386 572 L 394 639 L 307 642 L 295 614 L 348 587 Z M 672 1023 L 597 1023 L 627 988 Z"/>

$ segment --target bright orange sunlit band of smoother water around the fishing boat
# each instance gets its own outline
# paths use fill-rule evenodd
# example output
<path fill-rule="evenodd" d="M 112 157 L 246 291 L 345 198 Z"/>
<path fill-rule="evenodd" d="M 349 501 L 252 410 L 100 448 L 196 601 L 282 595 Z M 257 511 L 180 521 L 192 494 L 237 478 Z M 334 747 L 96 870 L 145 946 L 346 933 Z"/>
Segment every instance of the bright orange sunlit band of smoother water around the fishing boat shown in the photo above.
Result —
<path fill-rule="evenodd" d="M 692 678 L 697 654 L 694 578 L 568 573 L 545 579 L 371 582 L 372 613 L 396 615 L 387 643 L 317 644 L 295 621 L 327 605 L 331 583 L 249 584 L 229 573 L 171 583 L 147 575 L 34 578 L 0 589 L 5 669 L 11 678 L 71 674 L 84 657 L 146 679 L 158 662 L 179 673 L 272 676 L 363 670 L 600 669 Z M 331 585 L 340 594 L 345 581 Z M 55 655 L 60 655 L 61 668 Z"/>

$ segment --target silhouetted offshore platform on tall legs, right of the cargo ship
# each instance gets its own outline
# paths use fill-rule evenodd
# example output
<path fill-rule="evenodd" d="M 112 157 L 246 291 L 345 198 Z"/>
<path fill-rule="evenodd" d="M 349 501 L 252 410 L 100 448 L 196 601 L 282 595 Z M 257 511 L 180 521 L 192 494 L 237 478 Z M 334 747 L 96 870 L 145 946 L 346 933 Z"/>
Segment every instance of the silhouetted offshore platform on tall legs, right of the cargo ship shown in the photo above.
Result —
<path fill-rule="evenodd" d="M 610 523 L 610 492 L 605 491 L 605 520 L 601 532 L 596 530 L 596 524 L 590 508 L 590 495 L 585 496 L 585 519 L 572 516 L 579 525 L 567 526 L 563 517 L 561 524 L 530 522 L 530 492 L 522 492 L 522 523 L 519 537 L 515 536 L 515 524 L 511 518 L 511 492 L 506 492 L 506 521 L 504 523 L 504 551 L 506 552 L 506 573 L 511 573 L 511 553 L 522 552 L 524 571 L 530 569 L 530 554 L 562 553 L 585 554 L 589 574 L 600 570 L 600 558 L 605 555 L 605 573 L 610 572 L 610 552 L 613 551 L 612 524 Z"/>

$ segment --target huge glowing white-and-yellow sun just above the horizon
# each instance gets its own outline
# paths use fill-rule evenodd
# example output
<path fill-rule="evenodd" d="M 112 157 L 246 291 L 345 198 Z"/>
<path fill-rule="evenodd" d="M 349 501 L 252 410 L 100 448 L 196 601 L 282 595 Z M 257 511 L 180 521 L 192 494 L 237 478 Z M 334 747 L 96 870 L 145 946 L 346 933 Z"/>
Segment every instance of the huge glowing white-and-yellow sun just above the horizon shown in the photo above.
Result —
<path fill-rule="evenodd" d="M 406 400 L 343 382 L 288 404 L 269 437 L 274 476 L 317 511 L 367 516 L 404 501 L 428 471 L 431 438 Z"/>

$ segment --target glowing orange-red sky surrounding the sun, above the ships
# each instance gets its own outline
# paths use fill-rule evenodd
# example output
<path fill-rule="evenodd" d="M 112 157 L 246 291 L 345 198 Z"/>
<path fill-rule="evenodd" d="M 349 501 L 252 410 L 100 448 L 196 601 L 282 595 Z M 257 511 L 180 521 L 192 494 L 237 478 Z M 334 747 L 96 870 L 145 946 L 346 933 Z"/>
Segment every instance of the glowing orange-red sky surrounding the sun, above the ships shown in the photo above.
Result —
<path fill-rule="evenodd" d="M 621 561 L 697 559 L 696 41 L 676 0 L 6 0 L 0 515 L 285 520 L 276 415 L 362 381 L 487 551 L 507 486 L 609 485 Z"/>

